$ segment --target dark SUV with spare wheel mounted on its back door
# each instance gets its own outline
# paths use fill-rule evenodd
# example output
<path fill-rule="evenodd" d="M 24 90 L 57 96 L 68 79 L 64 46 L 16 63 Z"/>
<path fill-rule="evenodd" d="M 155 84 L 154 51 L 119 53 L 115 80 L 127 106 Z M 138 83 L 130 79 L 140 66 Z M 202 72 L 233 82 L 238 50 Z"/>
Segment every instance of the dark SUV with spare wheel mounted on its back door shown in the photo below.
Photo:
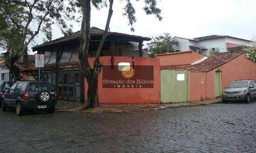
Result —
<path fill-rule="evenodd" d="M 2 111 L 13 107 L 17 115 L 22 115 L 26 109 L 46 109 L 48 113 L 54 113 L 57 94 L 47 82 L 24 81 L 14 83 L 1 96 L 1 101 Z"/>

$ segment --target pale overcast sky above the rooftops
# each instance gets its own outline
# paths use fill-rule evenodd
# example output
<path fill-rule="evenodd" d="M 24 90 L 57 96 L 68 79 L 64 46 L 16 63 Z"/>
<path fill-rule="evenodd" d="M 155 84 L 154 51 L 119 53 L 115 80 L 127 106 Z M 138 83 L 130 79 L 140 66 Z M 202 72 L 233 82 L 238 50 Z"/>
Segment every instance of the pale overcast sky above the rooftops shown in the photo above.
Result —
<path fill-rule="evenodd" d="M 229 35 L 251 39 L 256 36 L 256 0 L 158 0 L 163 20 L 154 15 L 146 15 L 142 10 L 144 0 L 132 0 L 135 6 L 137 22 L 135 32 L 130 31 L 128 19 L 122 16 L 124 6 L 120 0 L 114 0 L 110 31 L 133 35 L 154 37 L 164 32 L 172 36 L 195 38 L 212 34 Z M 104 29 L 108 8 L 100 11 L 92 8 L 91 26 Z M 74 23 L 73 32 L 80 25 Z M 57 26 L 53 27 L 53 39 L 63 35 Z M 42 43 L 42 35 L 36 38 Z"/>

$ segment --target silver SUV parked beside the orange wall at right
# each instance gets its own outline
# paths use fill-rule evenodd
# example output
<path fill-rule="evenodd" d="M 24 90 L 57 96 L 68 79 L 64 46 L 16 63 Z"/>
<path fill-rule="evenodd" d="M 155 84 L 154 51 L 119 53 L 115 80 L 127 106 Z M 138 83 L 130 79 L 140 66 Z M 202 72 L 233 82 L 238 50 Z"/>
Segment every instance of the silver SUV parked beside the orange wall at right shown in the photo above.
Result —
<path fill-rule="evenodd" d="M 252 98 L 256 98 L 254 80 L 236 80 L 222 91 L 222 102 L 244 101 L 249 103 Z"/>

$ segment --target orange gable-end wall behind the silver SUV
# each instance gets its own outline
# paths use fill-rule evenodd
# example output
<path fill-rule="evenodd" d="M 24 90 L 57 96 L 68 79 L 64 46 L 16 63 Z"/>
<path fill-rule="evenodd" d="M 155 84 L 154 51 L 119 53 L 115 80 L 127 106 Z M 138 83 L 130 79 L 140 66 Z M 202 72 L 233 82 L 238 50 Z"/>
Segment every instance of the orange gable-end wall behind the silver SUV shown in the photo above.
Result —
<path fill-rule="evenodd" d="M 247 59 L 244 54 L 218 69 L 222 70 L 222 89 L 237 79 L 256 79 L 256 63 Z"/>

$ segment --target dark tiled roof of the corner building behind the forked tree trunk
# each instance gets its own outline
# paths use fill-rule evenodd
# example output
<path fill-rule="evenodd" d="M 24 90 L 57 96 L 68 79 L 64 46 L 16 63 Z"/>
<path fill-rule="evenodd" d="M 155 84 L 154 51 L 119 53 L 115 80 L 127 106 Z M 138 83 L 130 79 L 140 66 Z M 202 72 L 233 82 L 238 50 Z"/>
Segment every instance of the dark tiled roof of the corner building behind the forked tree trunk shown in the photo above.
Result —
<path fill-rule="evenodd" d="M 99 28 L 96 28 L 96 27 L 91 27 L 90 28 L 90 35 L 91 36 L 103 35 L 103 33 L 104 33 L 104 30 L 102 30 L 102 29 L 99 29 Z M 34 46 L 34 47 L 32 47 L 32 49 L 34 51 L 34 50 L 36 50 L 36 49 L 38 49 L 40 47 L 44 47 L 44 46 L 47 46 L 47 45 L 54 45 L 54 44 L 58 44 L 58 43 L 67 42 L 67 41 L 70 41 L 70 40 L 75 40 L 75 39 L 80 37 L 80 34 L 81 34 L 80 31 L 74 32 L 74 33 L 72 33 L 70 35 L 54 39 L 52 41 L 49 41 L 49 42 L 41 44 L 41 45 Z M 119 33 L 119 32 L 108 32 L 108 35 L 110 35 L 110 36 L 119 36 L 119 37 L 127 37 L 127 38 L 134 38 L 134 39 L 142 39 L 142 40 L 146 40 L 146 41 L 151 40 L 151 38 L 148 38 L 148 37 L 135 36 L 135 35 Z"/>

